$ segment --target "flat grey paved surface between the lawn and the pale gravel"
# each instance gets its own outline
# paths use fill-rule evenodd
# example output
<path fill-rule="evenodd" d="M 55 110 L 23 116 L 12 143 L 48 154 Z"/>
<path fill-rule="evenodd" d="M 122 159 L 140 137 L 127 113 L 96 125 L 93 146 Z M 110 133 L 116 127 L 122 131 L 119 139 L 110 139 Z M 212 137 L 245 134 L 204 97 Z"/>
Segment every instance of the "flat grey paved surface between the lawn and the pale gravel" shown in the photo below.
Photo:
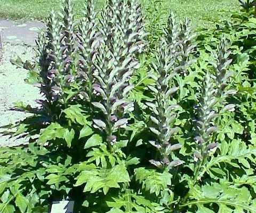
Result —
<path fill-rule="evenodd" d="M 45 24 L 41 21 L 18 23 L 11 20 L 0 19 L 2 42 L 35 46 L 38 31 L 44 26 Z"/>

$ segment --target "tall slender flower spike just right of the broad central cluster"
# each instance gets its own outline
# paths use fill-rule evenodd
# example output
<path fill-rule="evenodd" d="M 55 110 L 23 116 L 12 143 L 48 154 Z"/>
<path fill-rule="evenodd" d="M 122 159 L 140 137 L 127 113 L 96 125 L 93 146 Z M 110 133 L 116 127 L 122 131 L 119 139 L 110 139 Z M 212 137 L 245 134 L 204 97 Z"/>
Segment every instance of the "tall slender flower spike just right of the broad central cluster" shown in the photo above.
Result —
<path fill-rule="evenodd" d="M 161 154 L 161 161 L 151 160 L 150 162 L 170 169 L 174 165 L 178 166 L 182 163 L 181 161 L 179 163 L 170 162 L 171 153 L 181 147 L 180 144 L 171 144 L 170 140 L 177 130 L 177 127 L 173 127 L 172 122 L 177 115 L 174 110 L 179 107 L 172 100 L 172 95 L 178 90 L 178 87 L 173 85 L 173 77 L 178 75 L 178 71 L 183 67 L 178 60 L 182 54 L 179 46 L 182 42 L 179 40 L 180 24 L 172 12 L 164 33 L 165 37 L 161 38 L 156 50 L 156 61 L 152 63 L 155 71 L 152 78 L 156 85 L 148 86 L 155 96 L 155 101 L 146 104 L 153 112 L 150 116 L 153 125 L 149 129 L 156 135 L 156 141 L 150 141 L 150 143 Z"/>

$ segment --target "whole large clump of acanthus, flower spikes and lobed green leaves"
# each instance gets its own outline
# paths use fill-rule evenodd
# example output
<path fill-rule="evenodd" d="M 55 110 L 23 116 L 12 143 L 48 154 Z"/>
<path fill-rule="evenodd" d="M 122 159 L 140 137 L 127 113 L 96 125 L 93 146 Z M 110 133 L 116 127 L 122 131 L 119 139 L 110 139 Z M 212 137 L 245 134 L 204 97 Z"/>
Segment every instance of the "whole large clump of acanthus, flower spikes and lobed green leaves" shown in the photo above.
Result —
<path fill-rule="evenodd" d="M 153 38 L 136 0 L 94 4 L 75 21 L 65 0 L 38 35 L 44 99 L 11 126 L 28 144 L 0 149 L 0 212 L 255 212 L 253 51 L 221 30 L 196 44 L 172 12 Z"/>

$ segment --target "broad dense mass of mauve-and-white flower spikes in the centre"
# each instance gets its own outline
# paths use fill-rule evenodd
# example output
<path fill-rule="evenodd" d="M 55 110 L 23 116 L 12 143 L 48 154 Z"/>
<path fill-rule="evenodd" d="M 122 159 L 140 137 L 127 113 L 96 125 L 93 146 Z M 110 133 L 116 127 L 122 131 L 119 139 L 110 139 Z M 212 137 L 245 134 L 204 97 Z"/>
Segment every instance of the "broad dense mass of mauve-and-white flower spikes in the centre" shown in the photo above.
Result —
<path fill-rule="evenodd" d="M 113 0 L 108 2 L 100 21 L 104 39 L 96 54 L 93 91 L 101 101 L 92 104 L 105 114 L 105 120 L 94 119 L 94 127 L 105 130 L 110 145 L 116 141 L 113 134 L 126 127 L 125 114 L 133 110 L 133 103 L 126 98 L 133 88 L 129 79 L 138 67 L 135 53 L 139 50 L 137 40 L 140 38 L 136 30 L 141 30 L 136 25 L 137 19 L 131 18 L 133 13 L 130 1 Z"/>

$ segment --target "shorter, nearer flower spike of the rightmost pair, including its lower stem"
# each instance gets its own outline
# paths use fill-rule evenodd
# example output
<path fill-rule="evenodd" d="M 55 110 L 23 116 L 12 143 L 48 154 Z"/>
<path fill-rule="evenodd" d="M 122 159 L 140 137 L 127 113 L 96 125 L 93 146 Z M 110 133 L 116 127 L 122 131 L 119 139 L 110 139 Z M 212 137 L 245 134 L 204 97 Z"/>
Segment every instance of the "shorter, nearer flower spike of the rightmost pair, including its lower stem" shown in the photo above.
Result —
<path fill-rule="evenodd" d="M 196 143 L 196 150 L 194 152 L 194 161 L 196 163 L 194 178 L 191 178 L 188 183 L 189 191 L 183 202 L 187 201 L 195 184 L 201 181 L 201 168 L 207 163 L 208 157 L 218 148 L 217 143 L 211 142 L 213 133 L 218 130 L 214 123 L 215 119 L 219 116 L 215 108 L 215 105 L 218 103 L 218 99 L 215 96 L 216 93 L 217 89 L 213 76 L 209 72 L 206 72 L 203 83 L 199 88 L 199 96 L 197 97 L 198 106 L 195 119 L 197 136 L 194 137 Z"/>

